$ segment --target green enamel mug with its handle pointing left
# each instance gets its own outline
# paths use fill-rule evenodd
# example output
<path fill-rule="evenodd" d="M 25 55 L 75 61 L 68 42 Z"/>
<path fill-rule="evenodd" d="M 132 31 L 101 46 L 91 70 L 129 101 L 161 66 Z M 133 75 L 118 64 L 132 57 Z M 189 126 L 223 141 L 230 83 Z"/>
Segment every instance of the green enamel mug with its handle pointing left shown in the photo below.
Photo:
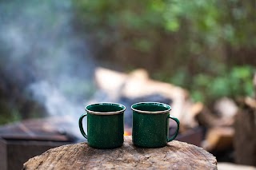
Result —
<path fill-rule="evenodd" d="M 96 103 L 86 106 L 86 113 L 79 118 L 82 136 L 93 148 L 118 148 L 123 144 L 124 105 L 117 103 Z M 87 117 L 87 134 L 82 119 Z"/>

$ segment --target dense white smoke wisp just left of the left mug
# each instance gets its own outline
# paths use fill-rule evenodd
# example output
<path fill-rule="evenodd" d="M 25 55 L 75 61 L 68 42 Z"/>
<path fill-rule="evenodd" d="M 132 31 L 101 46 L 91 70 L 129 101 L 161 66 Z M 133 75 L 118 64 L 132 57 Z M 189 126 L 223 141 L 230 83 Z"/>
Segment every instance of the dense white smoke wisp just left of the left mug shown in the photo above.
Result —
<path fill-rule="evenodd" d="M 32 92 L 35 100 L 45 105 L 51 117 L 58 117 L 58 119 L 66 121 L 68 126 L 62 126 L 58 130 L 68 132 L 73 136 L 80 136 L 77 122 L 82 110 L 84 110 L 83 105 L 78 105 L 68 100 L 48 81 L 38 81 L 31 84 L 28 89 Z"/>

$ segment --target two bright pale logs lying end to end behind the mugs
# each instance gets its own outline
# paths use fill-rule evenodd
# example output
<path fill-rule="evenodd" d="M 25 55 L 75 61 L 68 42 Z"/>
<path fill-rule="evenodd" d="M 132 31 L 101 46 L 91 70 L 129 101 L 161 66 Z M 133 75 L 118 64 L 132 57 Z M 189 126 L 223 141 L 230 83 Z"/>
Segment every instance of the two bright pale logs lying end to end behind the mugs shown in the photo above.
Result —
<path fill-rule="evenodd" d="M 159 94 L 172 101 L 171 114 L 180 122 L 180 132 L 198 126 L 195 116 L 200 113 L 202 104 L 194 104 L 189 93 L 176 85 L 154 81 L 145 69 L 136 69 L 133 72 L 119 73 L 110 69 L 98 68 L 95 71 L 95 81 L 98 88 L 108 94 L 109 101 L 117 101 L 118 97 L 130 99 Z"/>

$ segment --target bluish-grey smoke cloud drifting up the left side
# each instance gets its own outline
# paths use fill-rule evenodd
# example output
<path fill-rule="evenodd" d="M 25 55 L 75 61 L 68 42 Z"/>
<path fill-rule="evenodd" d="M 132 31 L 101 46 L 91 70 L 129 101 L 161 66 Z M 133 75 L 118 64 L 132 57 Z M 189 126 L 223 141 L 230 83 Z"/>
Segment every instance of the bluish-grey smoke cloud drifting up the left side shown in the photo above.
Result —
<path fill-rule="evenodd" d="M 77 127 L 95 65 L 73 14 L 71 0 L 1 1 L 0 66 L 50 116 L 69 115 Z"/>

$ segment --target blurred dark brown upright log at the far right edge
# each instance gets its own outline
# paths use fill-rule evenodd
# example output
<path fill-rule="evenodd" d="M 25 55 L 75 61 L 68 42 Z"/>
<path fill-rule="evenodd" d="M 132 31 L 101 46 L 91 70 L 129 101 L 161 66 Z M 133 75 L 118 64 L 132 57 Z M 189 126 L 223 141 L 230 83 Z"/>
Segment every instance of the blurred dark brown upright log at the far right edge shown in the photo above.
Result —
<path fill-rule="evenodd" d="M 256 100 L 244 98 L 234 122 L 234 156 L 238 164 L 256 166 Z"/>

